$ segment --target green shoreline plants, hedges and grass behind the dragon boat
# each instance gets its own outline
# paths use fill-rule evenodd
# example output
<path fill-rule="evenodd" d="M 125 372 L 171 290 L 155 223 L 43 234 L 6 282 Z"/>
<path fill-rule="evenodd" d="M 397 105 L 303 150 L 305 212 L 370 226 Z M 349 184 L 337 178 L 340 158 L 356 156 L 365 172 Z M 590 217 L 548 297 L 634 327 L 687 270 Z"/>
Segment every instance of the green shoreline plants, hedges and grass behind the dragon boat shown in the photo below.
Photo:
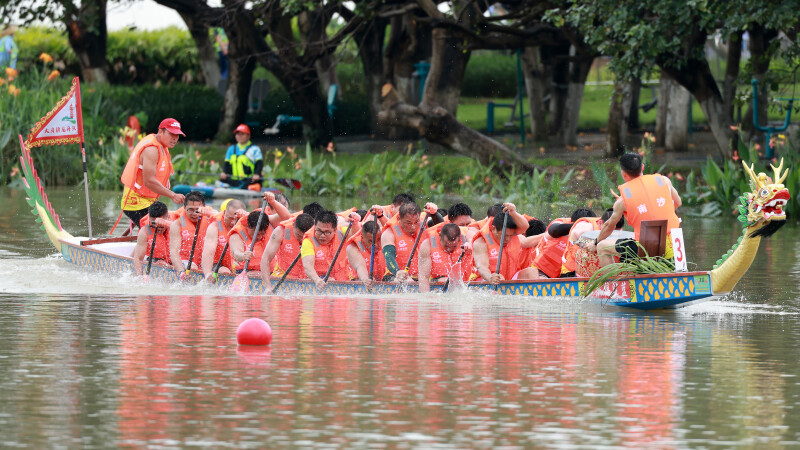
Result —
<path fill-rule="evenodd" d="M 3 85 L 0 86 L 0 99 L 4 104 L 0 108 L 0 181 L 2 183 L 18 183 L 14 181 L 19 172 L 18 167 L 18 142 L 16 135 L 27 133 L 31 126 L 47 111 L 52 109 L 58 99 L 67 91 L 70 76 L 61 72 L 71 64 L 75 64 L 74 54 L 70 59 L 71 49 L 66 42 L 61 42 L 62 37 L 52 36 L 53 31 L 41 28 L 31 28 L 28 31 L 32 36 L 47 37 L 42 39 L 41 45 L 51 51 L 58 52 L 56 57 L 50 55 L 34 57 L 29 45 L 31 39 L 25 38 L 25 33 L 20 33 L 22 49 L 20 61 L 21 68 L 16 77 L 3 76 Z M 185 45 L 186 51 L 191 52 L 194 45 L 191 39 L 184 36 L 180 44 L 181 30 L 164 30 L 163 33 L 175 35 L 170 42 Z M 114 33 L 111 33 L 112 36 Z M 177 36 L 177 37 L 176 37 Z M 126 31 L 121 36 L 124 39 L 133 39 L 131 32 Z M 118 37 L 119 38 L 119 37 Z M 123 40 L 124 40 L 123 39 Z M 27 43 L 27 44 L 26 44 Z M 110 38 L 110 61 L 113 62 L 113 39 Z M 155 45 L 155 44 L 154 44 Z M 38 51 L 36 49 L 35 51 Z M 27 52 L 27 53 L 26 53 Z M 161 49 L 153 51 L 153 58 L 167 58 L 170 54 Z M 165 56 L 166 55 L 166 56 Z M 190 55 L 191 56 L 191 55 Z M 494 60 L 505 58 L 503 64 L 513 62 L 509 55 L 489 55 Z M 497 102 L 511 102 L 508 98 L 515 92 L 516 79 L 514 77 L 497 82 L 494 78 L 487 79 L 492 74 L 484 73 L 487 66 L 481 63 L 480 56 L 473 59 L 478 61 L 472 75 L 468 75 L 464 83 L 464 93 L 474 97 L 463 96 L 459 102 L 458 119 L 476 130 L 486 128 L 486 103 L 490 100 Z M 191 59 L 191 58 L 189 58 Z M 471 64 L 473 63 L 471 62 Z M 178 61 L 187 67 L 190 64 L 186 59 Z M 179 65 L 180 65 L 179 64 Z M 504 67 L 502 64 L 498 67 Z M 183 67 L 183 66 L 180 66 Z M 482 71 L 483 70 L 483 71 Z M 349 118 L 353 122 L 359 121 L 359 114 L 351 114 L 361 108 L 359 106 L 358 89 L 353 87 L 358 83 L 354 73 L 355 64 L 342 65 L 342 85 L 345 92 L 351 92 L 356 97 L 351 103 L 344 102 L 340 105 L 337 129 L 341 135 L 358 134 L 358 126 L 342 125 L 342 121 Z M 176 72 L 177 73 L 177 72 Z M 498 72 L 500 77 L 509 78 L 508 73 L 513 73 L 513 64 Z M 191 75 L 191 74 L 189 74 Z M 127 117 L 136 115 L 143 124 L 143 130 L 157 123 L 158 117 L 187 117 L 182 122 L 187 127 L 187 135 L 199 136 L 200 142 L 180 143 L 173 151 L 175 169 L 183 172 L 218 172 L 221 157 L 229 144 L 210 142 L 209 130 L 216 129 L 222 98 L 213 89 L 199 84 L 186 84 L 191 76 L 184 73 L 184 82 L 163 84 L 160 82 L 145 83 L 140 85 L 84 85 L 82 87 L 82 101 L 84 114 L 84 131 L 86 135 L 86 149 L 89 165 L 90 187 L 93 189 L 120 189 L 119 174 L 127 162 L 129 151 L 125 144 L 125 137 L 131 130 L 124 124 Z M 257 77 L 269 77 L 268 72 L 256 73 Z M 174 78 L 174 77 L 173 77 Z M 180 77 L 179 77 L 180 78 Z M 598 70 L 597 81 L 607 81 L 613 75 L 607 69 Z M 172 81 L 175 81 L 174 79 Z M 264 116 L 257 120 L 262 126 L 272 123 L 277 112 L 291 113 L 291 107 L 281 109 L 280 105 L 286 104 L 288 95 L 282 90 L 280 84 L 272 83 L 275 87 L 267 100 L 266 110 L 272 116 Z M 348 87 L 348 85 L 351 85 Z M 494 90 L 486 90 L 492 86 Z M 13 88 L 12 88 L 13 87 Z M 608 97 L 611 87 L 605 85 L 587 86 L 586 95 L 580 109 L 579 127 L 581 129 L 601 129 L 608 116 Z M 494 97 L 489 97 L 494 94 Z M 348 94 L 350 95 L 350 94 Z M 489 95 L 489 96 L 486 96 Z M 642 90 L 641 102 L 649 101 L 651 92 Z M 290 102 L 289 102 L 290 103 Z M 527 108 L 527 105 L 525 105 Z M 702 116 L 696 102 L 694 123 L 703 124 Z M 495 122 L 499 130 L 508 120 L 510 112 L 507 109 L 498 110 Z M 770 118 L 774 115 L 780 117 L 782 111 L 771 111 Z M 652 116 L 652 117 L 651 117 Z M 643 127 L 652 126 L 655 120 L 654 111 L 643 113 L 640 121 Z M 366 121 L 368 122 L 368 121 Z M 205 135 L 204 135 L 205 133 Z M 23 134 L 23 137 L 25 137 Z M 213 134 L 213 131 L 212 131 Z M 597 148 L 584 148 L 580 151 L 586 157 L 562 158 L 558 152 L 545 151 L 541 143 L 528 142 L 526 146 L 519 145 L 519 136 L 504 137 L 502 139 L 509 147 L 520 150 L 522 153 L 535 154 L 527 158 L 529 162 L 542 167 L 530 174 L 520 172 L 516 167 L 504 167 L 502 161 L 497 165 L 481 165 L 475 160 L 457 156 L 452 153 L 439 154 L 439 152 L 426 151 L 422 141 L 416 144 L 400 144 L 388 146 L 379 153 L 345 153 L 339 152 L 335 145 L 329 145 L 327 150 L 312 151 L 305 145 L 279 146 L 262 145 L 265 154 L 266 178 L 290 177 L 303 183 L 304 195 L 316 196 L 358 196 L 365 193 L 371 195 L 388 195 L 401 191 L 426 193 L 431 198 L 480 198 L 487 201 L 505 199 L 520 205 L 520 207 L 542 210 L 542 208 L 559 208 L 575 206 L 588 206 L 596 210 L 609 207 L 613 198 L 609 189 L 621 183 L 615 160 L 602 158 L 602 150 Z M 134 136 L 137 139 L 138 136 Z M 203 142 L 205 138 L 205 142 Z M 798 147 L 793 142 L 793 136 L 776 135 L 777 154 L 787 158 L 789 167 L 796 167 L 798 161 Z M 646 160 L 653 155 L 654 138 L 647 132 L 641 145 L 633 146 L 630 151 L 637 151 Z M 258 142 L 257 142 L 258 143 Z M 334 140 L 335 144 L 335 140 Z M 538 147 L 538 151 L 536 151 Z M 587 146 L 589 147 L 589 146 Z M 573 149 L 576 150 L 576 149 Z M 563 150 L 562 150 L 563 151 Z M 593 152 L 593 153 L 589 153 Z M 661 150 L 659 150 L 659 153 Z M 758 145 L 753 148 L 739 146 L 738 153 L 733 160 L 721 161 L 720 159 L 707 158 L 705 164 L 695 168 L 661 166 L 651 167 L 648 163 L 648 172 L 661 172 L 669 176 L 678 188 L 684 199 L 684 205 L 689 207 L 689 214 L 713 216 L 727 214 L 731 205 L 736 203 L 737 197 L 747 192 L 747 176 L 741 168 L 741 160 L 756 163 L 756 171 L 768 170 L 768 165 L 759 160 Z M 81 182 L 79 151 L 77 148 L 53 147 L 37 149 L 32 153 L 38 159 L 37 166 L 40 175 L 46 184 L 74 185 Z M 185 184 L 196 181 L 205 181 L 212 184 L 215 179 L 208 177 L 178 176 L 175 179 Z M 790 172 L 786 186 L 791 192 L 800 192 L 800 171 Z M 798 206 L 800 202 L 793 198 L 790 203 Z"/>

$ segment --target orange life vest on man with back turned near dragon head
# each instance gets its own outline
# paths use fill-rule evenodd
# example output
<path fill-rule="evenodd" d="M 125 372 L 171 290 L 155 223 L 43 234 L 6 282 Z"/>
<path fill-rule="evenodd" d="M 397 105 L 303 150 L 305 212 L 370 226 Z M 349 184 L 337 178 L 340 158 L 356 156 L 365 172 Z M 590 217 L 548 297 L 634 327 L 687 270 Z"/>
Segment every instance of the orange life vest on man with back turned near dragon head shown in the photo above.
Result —
<path fill-rule="evenodd" d="M 639 224 L 643 220 L 667 220 L 667 230 L 680 228 L 681 222 L 675 214 L 675 203 L 666 179 L 660 174 L 642 175 L 619 186 L 619 194 L 625 202 L 625 217 L 633 227 L 639 240 Z"/>

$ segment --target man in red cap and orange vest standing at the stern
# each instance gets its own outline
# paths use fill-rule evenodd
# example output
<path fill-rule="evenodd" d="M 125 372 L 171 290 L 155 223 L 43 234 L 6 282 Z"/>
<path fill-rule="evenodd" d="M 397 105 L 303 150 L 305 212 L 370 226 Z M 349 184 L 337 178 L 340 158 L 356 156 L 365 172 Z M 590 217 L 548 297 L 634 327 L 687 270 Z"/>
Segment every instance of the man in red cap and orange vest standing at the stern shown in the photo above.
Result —
<path fill-rule="evenodd" d="M 136 226 L 160 195 L 169 197 L 178 205 L 183 203 L 183 194 L 171 191 L 169 184 L 173 172 L 169 149 L 175 147 L 179 136 L 185 134 L 177 120 L 162 120 L 158 133 L 148 134 L 139 141 L 125 164 L 120 177 L 125 186 L 120 206 Z"/>

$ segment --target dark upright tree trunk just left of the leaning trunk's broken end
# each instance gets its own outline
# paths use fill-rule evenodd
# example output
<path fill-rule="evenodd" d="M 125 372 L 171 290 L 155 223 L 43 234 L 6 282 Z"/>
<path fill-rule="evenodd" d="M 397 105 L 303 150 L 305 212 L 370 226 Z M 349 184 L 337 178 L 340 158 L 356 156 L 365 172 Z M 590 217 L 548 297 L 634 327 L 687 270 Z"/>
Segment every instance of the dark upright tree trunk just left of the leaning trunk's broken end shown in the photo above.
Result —
<path fill-rule="evenodd" d="M 367 82 L 367 98 L 369 100 L 370 129 L 373 134 L 386 137 L 388 130 L 378 122 L 381 111 L 381 86 L 385 83 L 383 75 L 383 42 L 389 21 L 375 18 L 364 30 L 356 35 L 358 55 L 364 69 Z"/>

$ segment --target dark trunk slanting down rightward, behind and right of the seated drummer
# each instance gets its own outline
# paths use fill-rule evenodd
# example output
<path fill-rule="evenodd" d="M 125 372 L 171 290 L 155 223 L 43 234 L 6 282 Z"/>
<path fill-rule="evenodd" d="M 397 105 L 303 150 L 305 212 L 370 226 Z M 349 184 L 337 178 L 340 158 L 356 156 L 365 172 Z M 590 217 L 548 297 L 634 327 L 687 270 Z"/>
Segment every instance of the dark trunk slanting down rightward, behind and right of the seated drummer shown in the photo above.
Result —
<path fill-rule="evenodd" d="M 714 135 L 720 153 L 728 158 L 733 154 L 731 141 L 733 131 L 730 129 L 731 122 L 725 114 L 722 95 L 717 87 L 717 82 L 708 67 L 705 59 L 687 59 L 681 69 L 666 64 L 659 64 L 661 70 L 668 73 L 678 83 L 689 90 L 700 103 L 708 118 L 708 126 Z"/>

